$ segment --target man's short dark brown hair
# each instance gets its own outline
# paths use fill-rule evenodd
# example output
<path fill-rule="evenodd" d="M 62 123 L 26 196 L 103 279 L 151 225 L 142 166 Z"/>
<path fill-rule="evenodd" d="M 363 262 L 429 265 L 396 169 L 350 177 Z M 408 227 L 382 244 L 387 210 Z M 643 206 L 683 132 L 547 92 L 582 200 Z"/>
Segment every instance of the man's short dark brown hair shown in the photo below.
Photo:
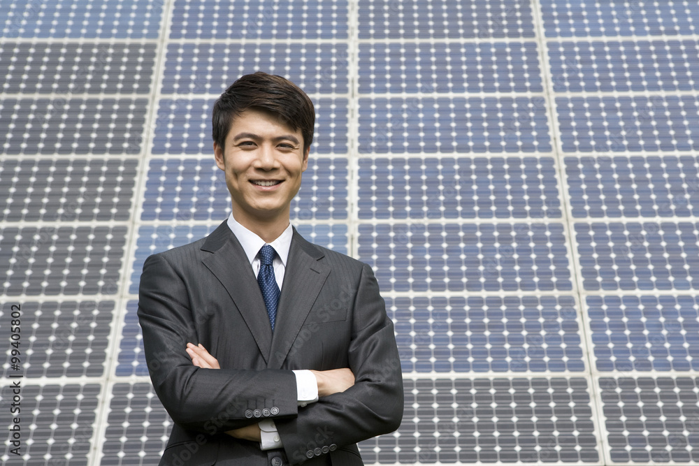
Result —
<path fill-rule="evenodd" d="M 212 136 L 223 147 L 233 119 L 248 108 L 266 110 L 280 122 L 301 129 L 303 152 L 313 142 L 315 109 L 309 97 L 293 82 L 262 71 L 238 78 L 214 104 Z"/>

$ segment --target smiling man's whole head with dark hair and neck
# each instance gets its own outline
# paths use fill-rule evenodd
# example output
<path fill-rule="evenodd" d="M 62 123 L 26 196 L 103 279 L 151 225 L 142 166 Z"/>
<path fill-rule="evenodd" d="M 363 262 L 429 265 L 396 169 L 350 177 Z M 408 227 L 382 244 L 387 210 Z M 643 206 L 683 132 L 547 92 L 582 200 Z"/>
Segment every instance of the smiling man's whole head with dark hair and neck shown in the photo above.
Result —
<path fill-rule="evenodd" d="M 313 104 L 288 80 L 254 73 L 226 89 L 212 121 L 216 164 L 226 173 L 233 217 L 270 242 L 289 225 L 291 201 L 308 168 Z"/>

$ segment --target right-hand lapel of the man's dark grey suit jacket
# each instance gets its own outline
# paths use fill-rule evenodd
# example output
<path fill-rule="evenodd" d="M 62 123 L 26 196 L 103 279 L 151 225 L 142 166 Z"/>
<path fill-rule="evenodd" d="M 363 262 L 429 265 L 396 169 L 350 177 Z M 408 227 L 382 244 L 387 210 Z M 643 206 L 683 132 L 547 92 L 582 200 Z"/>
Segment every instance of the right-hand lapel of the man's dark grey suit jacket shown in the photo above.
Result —
<path fill-rule="evenodd" d="M 322 261 L 323 252 L 303 239 L 294 228 L 287 268 L 284 270 L 282 294 L 277 307 L 277 321 L 272 337 L 269 369 L 280 369 L 291 344 L 325 284 L 330 268 Z"/>

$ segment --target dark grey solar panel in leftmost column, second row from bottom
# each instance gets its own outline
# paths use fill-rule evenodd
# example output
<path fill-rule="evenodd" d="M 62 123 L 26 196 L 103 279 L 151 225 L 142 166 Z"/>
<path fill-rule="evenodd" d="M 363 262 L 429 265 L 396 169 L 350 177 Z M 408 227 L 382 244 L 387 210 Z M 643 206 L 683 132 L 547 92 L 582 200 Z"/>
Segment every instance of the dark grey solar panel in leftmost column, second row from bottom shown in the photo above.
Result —
<path fill-rule="evenodd" d="M 10 307 L 10 303 L 5 303 L 0 310 L 0 318 L 8 322 L 0 327 L 0 337 L 8 342 L 13 341 L 10 340 L 13 328 Z M 24 377 L 100 377 L 104 374 L 114 301 L 24 301 L 21 311 L 23 318 L 18 320 L 24 332 L 17 349 L 20 349 Z M 11 374 L 17 372 L 8 358 L 3 364 L 3 377 Z"/>

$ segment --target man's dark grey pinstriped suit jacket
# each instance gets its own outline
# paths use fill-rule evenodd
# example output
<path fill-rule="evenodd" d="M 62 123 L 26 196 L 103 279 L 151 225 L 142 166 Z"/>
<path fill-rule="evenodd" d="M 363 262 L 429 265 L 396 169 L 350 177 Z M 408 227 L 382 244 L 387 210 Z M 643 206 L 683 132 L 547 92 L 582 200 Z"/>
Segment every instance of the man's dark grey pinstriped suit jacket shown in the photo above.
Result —
<path fill-rule="evenodd" d="M 138 318 L 155 392 L 175 425 L 160 465 L 361 465 L 356 442 L 403 416 L 394 326 L 371 268 L 294 228 L 272 333 L 257 279 L 224 221 L 145 261 Z M 220 370 L 185 351 L 203 344 Z M 343 393 L 297 406 L 291 370 L 349 367 Z M 273 418 L 283 449 L 226 430 Z"/>

